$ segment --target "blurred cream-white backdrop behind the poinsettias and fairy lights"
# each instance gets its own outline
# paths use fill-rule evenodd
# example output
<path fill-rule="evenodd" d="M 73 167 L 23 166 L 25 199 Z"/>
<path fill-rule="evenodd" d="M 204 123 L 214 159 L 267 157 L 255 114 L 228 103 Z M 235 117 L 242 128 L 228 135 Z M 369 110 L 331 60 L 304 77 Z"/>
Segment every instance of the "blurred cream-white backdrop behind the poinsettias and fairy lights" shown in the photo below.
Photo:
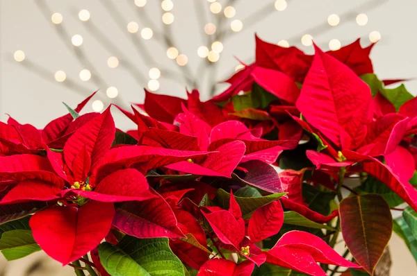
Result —
<path fill-rule="evenodd" d="M 200 92 L 206 99 L 212 82 L 224 80 L 234 72 L 239 64 L 235 56 L 244 62 L 252 62 L 254 33 L 268 42 L 287 40 L 289 44 L 313 53 L 312 46 L 302 45 L 303 35 L 312 35 L 316 44 L 328 50 L 329 41 L 333 39 L 343 45 L 361 37 L 361 43 L 368 45 L 370 33 L 377 31 L 381 40 L 375 45 L 371 58 L 379 78 L 417 76 L 416 0 L 287 0 L 284 10 L 283 1 L 278 1 L 281 4 L 277 8 L 281 11 L 275 8 L 275 0 L 219 0 L 222 10 L 217 14 L 211 12 L 211 3 L 207 0 L 172 0 L 174 5 L 165 6 L 167 11 L 161 9 L 159 0 L 147 2 L 138 7 L 145 1 L 0 0 L 0 119 L 6 120 L 5 113 L 8 113 L 21 123 L 42 128 L 66 112 L 61 102 L 74 106 L 95 89 L 100 89 L 97 99 L 105 106 L 115 101 L 125 107 L 129 107 L 129 103 L 141 103 L 144 98 L 142 87 L 148 86 L 151 80 L 148 72 L 153 67 L 161 69 L 156 93 L 186 96 L 185 87 L 193 88 L 183 78 L 182 72 L 188 70 L 188 75 L 199 81 Z M 234 7 L 234 17 L 224 16 L 226 6 Z M 216 8 L 212 6 L 213 11 Z M 79 19 L 79 11 L 83 9 L 90 13 L 88 21 Z M 60 24 L 51 21 L 55 12 L 62 15 Z M 169 26 L 163 24 L 164 12 L 170 12 L 174 17 Z M 368 18 L 363 26 L 356 21 L 361 13 Z M 327 22 L 332 14 L 340 18 L 337 26 L 330 26 Z M 170 17 L 165 15 L 165 20 L 170 20 Z M 81 14 L 81 19 L 86 18 L 85 13 Z M 59 22 L 59 15 L 54 20 Z M 231 31 L 234 20 L 243 24 L 238 32 Z M 130 30 L 137 29 L 136 33 L 128 32 L 127 25 L 132 21 L 137 26 L 131 24 Z M 204 33 L 207 23 L 217 24 L 214 35 Z M 238 25 L 235 21 L 235 28 Z M 142 32 L 144 28 L 152 28 L 153 36 L 149 40 L 142 37 L 142 34 L 145 37 L 149 35 L 149 32 Z M 61 30 L 61 34 L 64 30 L 65 34 L 60 35 L 57 30 Z M 168 31 L 167 37 L 161 35 L 164 31 Z M 197 55 L 199 46 L 210 49 L 213 37 L 222 31 L 226 31 L 225 35 L 217 36 L 224 46 L 220 59 L 211 64 L 206 58 L 200 58 Z M 83 37 L 81 46 L 72 45 L 74 35 Z M 165 38 L 170 40 L 167 44 Z M 186 69 L 167 57 L 169 46 L 187 56 Z M 13 59 L 17 50 L 24 51 L 23 62 Z M 116 68 L 108 66 L 111 56 L 120 62 Z M 213 56 L 216 58 L 215 54 Z M 183 60 L 178 61 L 181 63 Z M 208 64 L 211 64 L 211 69 L 204 69 Z M 91 71 L 89 80 L 81 80 L 79 74 L 83 69 Z M 63 83 L 55 80 L 56 71 L 65 72 Z M 175 72 L 174 76 L 167 78 L 170 75 L 168 71 Z M 152 81 L 150 85 L 155 86 L 156 82 Z M 116 98 L 106 96 L 108 87 L 117 89 Z M 417 94 L 417 80 L 408 81 L 406 87 L 411 94 Z M 216 86 L 216 91 L 221 89 L 224 85 Z M 85 111 L 92 110 L 91 103 Z M 127 119 L 113 113 L 118 127 L 131 127 Z M 390 247 L 393 259 L 391 275 L 417 275 L 416 262 L 404 243 L 394 236 Z M 21 262 L 25 261 L 12 262 L 14 268 L 9 268 L 6 275 L 24 275 L 16 270 Z M 2 267 L 0 261 L 0 274 Z"/>

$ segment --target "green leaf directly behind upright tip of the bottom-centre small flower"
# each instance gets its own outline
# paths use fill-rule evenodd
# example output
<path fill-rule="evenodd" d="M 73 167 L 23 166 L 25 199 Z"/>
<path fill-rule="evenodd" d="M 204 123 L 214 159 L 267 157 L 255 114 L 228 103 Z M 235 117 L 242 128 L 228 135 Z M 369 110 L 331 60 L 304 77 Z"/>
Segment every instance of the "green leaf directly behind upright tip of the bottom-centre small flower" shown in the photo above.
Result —
<path fill-rule="evenodd" d="M 215 194 L 215 199 L 218 200 L 220 207 L 223 209 L 229 209 L 230 193 L 227 193 L 227 191 L 224 191 L 223 189 L 218 189 Z M 235 198 L 236 202 L 238 202 L 238 205 L 240 206 L 240 209 L 242 210 L 243 218 L 250 218 L 256 209 L 262 207 L 263 205 L 267 205 L 284 195 L 286 195 L 286 193 L 274 193 L 269 196 L 261 196 L 257 198 L 241 198 L 240 196 L 235 196 Z"/>

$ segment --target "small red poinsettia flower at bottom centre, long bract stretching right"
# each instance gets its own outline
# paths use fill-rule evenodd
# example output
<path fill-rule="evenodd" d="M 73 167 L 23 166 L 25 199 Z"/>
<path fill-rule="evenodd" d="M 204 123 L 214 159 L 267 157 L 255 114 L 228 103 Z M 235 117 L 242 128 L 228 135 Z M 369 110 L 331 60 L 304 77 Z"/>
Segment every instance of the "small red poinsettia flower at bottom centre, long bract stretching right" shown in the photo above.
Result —
<path fill-rule="evenodd" d="M 259 249 L 255 243 L 277 234 L 284 223 L 284 212 L 279 201 L 273 201 L 256 209 L 247 228 L 233 193 L 230 196 L 229 210 L 219 207 L 206 207 L 206 209 L 207 211 L 203 211 L 202 214 L 218 237 L 218 245 L 237 252 L 258 266 L 267 261 L 270 264 L 277 264 L 311 275 L 326 275 L 316 264 L 317 261 L 352 268 L 360 267 L 343 259 L 325 241 L 307 232 L 288 232 L 279 239 L 271 250 L 265 252 Z M 249 239 L 245 237 L 245 229 L 247 229 Z M 299 256 L 297 258 L 291 257 L 294 255 Z M 204 271 L 208 269 L 207 266 L 215 268 L 216 264 L 213 262 L 204 264 L 200 268 L 202 275 L 205 275 Z M 216 270 L 213 272 L 220 273 Z"/>

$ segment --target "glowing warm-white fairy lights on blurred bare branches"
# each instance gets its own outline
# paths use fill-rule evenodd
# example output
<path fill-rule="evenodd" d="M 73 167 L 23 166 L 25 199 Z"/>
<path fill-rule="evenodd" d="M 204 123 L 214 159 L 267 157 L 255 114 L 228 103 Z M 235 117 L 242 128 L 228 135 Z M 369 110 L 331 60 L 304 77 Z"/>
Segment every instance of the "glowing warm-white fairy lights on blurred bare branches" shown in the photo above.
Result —
<path fill-rule="evenodd" d="M 133 1 L 133 0 L 129 0 Z M 220 53 L 224 50 L 224 45 L 222 43 L 222 40 L 224 41 L 224 38 L 227 37 L 229 34 L 238 33 L 243 30 L 243 23 L 245 22 L 244 19 L 237 19 L 236 15 L 238 12 L 236 12 L 236 8 L 233 6 L 236 4 L 238 0 L 225 0 L 226 4 L 224 7 L 222 6 L 222 3 L 218 0 L 207 0 L 208 1 L 208 7 L 204 5 L 204 2 L 198 3 L 196 5 L 204 5 L 204 8 L 208 8 L 210 10 L 211 14 L 213 15 L 210 19 L 203 22 L 202 26 L 204 26 L 204 33 L 206 34 L 206 45 L 201 45 L 197 48 L 197 56 L 199 58 L 202 58 L 205 60 L 206 66 L 210 67 L 215 62 L 218 62 L 220 60 Z M 289 1 L 289 0 L 287 0 Z M 277 10 L 278 12 L 284 12 L 288 6 L 286 0 L 276 0 L 275 3 L 273 3 L 270 6 L 269 10 Z M 134 5 L 138 9 L 144 9 L 145 6 L 147 6 L 147 0 L 134 0 Z M 174 24 L 175 17 L 174 17 L 174 2 L 172 0 L 163 0 L 161 1 L 161 10 L 162 10 L 162 16 L 161 21 L 165 26 L 170 26 L 171 24 Z M 61 26 L 64 23 L 63 15 L 60 12 L 54 12 L 50 15 L 51 23 L 55 26 Z M 85 22 L 85 24 L 88 23 L 88 21 L 91 21 L 91 14 L 89 10 L 79 10 L 78 12 L 78 19 Z M 253 20 L 253 18 L 247 19 L 247 21 Z M 355 21 L 357 25 L 359 26 L 366 26 L 368 24 L 368 16 L 366 13 L 358 13 L 355 17 Z M 338 26 L 341 23 L 341 16 L 332 14 L 327 17 L 327 26 L 329 28 L 332 28 L 334 26 Z M 229 24 L 229 30 L 224 28 L 224 24 Z M 138 21 L 130 21 L 126 24 L 126 32 L 131 35 L 138 35 L 140 34 L 140 37 L 142 40 L 152 40 L 152 39 L 158 39 L 158 37 L 163 37 L 163 41 L 165 42 L 165 46 L 167 46 L 166 55 L 167 58 L 170 60 L 174 60 L 174 62 L 177 63 L 179 69 L 183 67 L 183 74 L 188 75 L 189 69 L 187 67 L 188 65 L 188 55 L 186 53 L 181 53 L 181 51 L 175 46 L 174 44 L 170 44 L 172 39 L 165 33 L 164 31 L 157 30 L 156 26 L 143 26 L 144 24 L 138 23 Z M 143 26 L 141 28 L 141 26 Z M 226 25 L 227 26 L 227 25 Z M 369 33 L 368 38 L 370 42 L 377 42 L 378 40 L 381 40 L 381 34 L 378 31 L 372 31 Z M 313 35 L 309 33 L 305 33 L 300 38 L 302 45 L 304 46 L 311 46 L 313 44 Z M 300 41 L 299 40 L 299 41 Z M 161 43 L 163 42 L 161 41 Z M 72 46 L 74 46 L 79 51 L 83 51 L 82 45 L 84 43 L 84 38 L 79 34 L 74 34 L 70 37 L 70 42 L 67 41 L 66 43 L 71 43 Z M 279 46 L 282 47 L 289 47 L 291 46 L 291 42 L 288 40 L 279 40 L 277 42 Z M 340 40 L 334 38 L 332 40 L 329 40 L 329 49 L 335 51 L 341 48 L 341 42 Z M 124 60 L 122 56 L 117 55 L 111 55 L 107 58 L 106 63 L 109 68 L 111 69 L 117 69 L 117 67 L 120 67 L 120 59 Z M 148 57 L 149 58 L 149 57 Z M 26 54 L 22 50 L 17 50 L 14 53 L 14 59 L 16 62 L 22 62 L 24 63 L 26 61 Z M 208 63 L 207 63 L 208 62 Z M 235 71 L 238 71 L 243 68 L 242 64 L 238 64 L 236 66 Z M 92 74 L 91 68 L 85 68 L 82 69 L 79 72 L 79 79 L 83 82 L 88 82 L 92 80 Z M 169 74 L 165 74 L 165 73 Z M 133 74 L 133 73 L 132 73 Z M 164 76 L 166 75 L 166 76 Z M 170 72 L 167 69 L 164 69 L 163 66 L 156 66 L 149 69 L 147 72 L 147 88 L 153 92 L 157 91 L 160 88 L 160 83 L 158 81 L 161 77 L 169 77 L 172 76 L 172 78 L 177 78 L 174 74 L 174 72 Z M 63 71 L 62 69 L 56 71 L 54 73 L 54 79 L 58 83 L 66 83 L 69 82 L 70 79 Z M 149 78 L 148 78 L 149 77 Z M 194 81 L 192 78 L 188 77 L 187 80 Z M 72 82 L 76 82 L 73 80 Z M 101 83 L 100 83 L 101 84 Z M 195 84 L 195 83 L 193 83 Z M 115 86 L 108 86 L 106 88 L 106 96 L 109 99 L 115 99 L 120 97 L 119 92 L 117 90 L 117 87 Z M 103 110 L 104 108 L 104 102 L 101 100 L 96 100 L 92 103 L 92 109 L 96 112 L 99 112 Z"/>

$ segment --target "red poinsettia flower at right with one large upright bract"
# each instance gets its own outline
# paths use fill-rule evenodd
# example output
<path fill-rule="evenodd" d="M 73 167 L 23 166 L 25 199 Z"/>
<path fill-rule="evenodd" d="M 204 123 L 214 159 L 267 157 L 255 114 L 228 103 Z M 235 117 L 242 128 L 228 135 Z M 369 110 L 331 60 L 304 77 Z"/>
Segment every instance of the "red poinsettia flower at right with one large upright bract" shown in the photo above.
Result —
<path fill-rule="evenodd" d="M 324 169 L 338 170 L 363 162 L 363 171 L 384 182 L 417 209 L 417 191 L 408 183 L 412 174 L 399 176 L 403 170 L 393 171 L 398 166 L 383 164 L 375 158 L 388 156 L 387 163 L 392 163 L 390 154 L 396 159 L 407 156 L 401 149 L 398 153 L 397 146 L 407 131 L 409 119 L 400 114 L 386 114 L 374 121 L 371 98 L 368 85 L 352 70 L 316 47 L 296 105 L 308 121 L 300 123 L 322 138 L 330 156 L 313 150 L 308 150 L 307 156 Z"/>

